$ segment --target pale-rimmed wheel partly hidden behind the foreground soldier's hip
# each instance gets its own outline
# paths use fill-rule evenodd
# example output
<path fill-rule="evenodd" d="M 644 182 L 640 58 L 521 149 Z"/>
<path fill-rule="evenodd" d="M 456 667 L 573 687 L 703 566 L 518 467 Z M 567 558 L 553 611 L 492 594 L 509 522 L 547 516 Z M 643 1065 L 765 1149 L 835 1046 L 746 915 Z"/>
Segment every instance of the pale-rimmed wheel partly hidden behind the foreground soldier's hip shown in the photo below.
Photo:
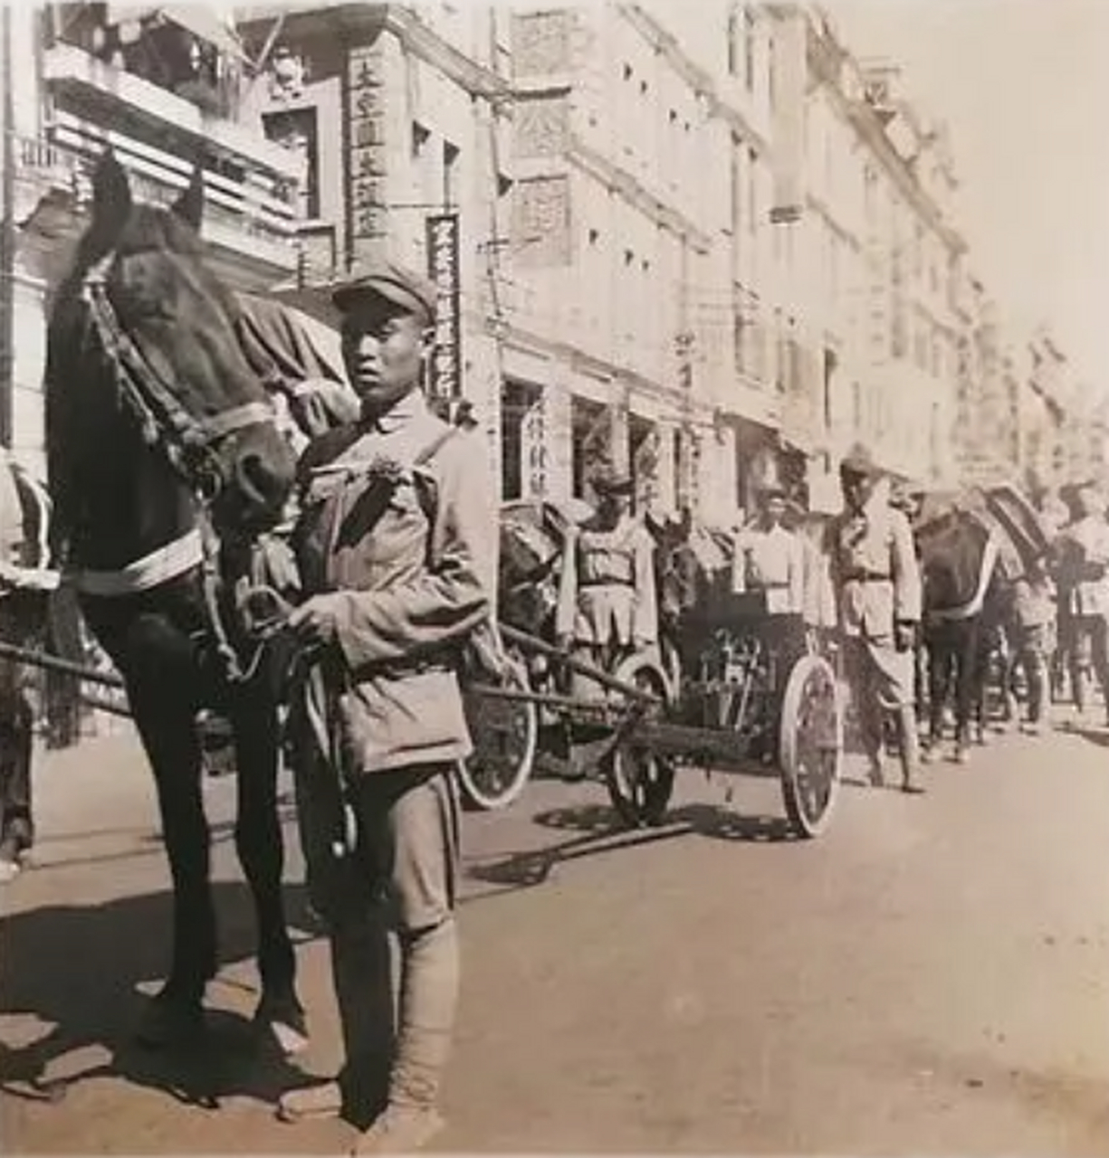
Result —
<path fill-rule="evenodd" d="M 510 659 L 508 688 L 528 691 L 527 668 Z M 466 720 L 474 752 L 459 768 L 462 804 L 472 812 L 506 808 L 532 775 L 539 742 L 539 709 L 520 699 L 466 694 Z"/>

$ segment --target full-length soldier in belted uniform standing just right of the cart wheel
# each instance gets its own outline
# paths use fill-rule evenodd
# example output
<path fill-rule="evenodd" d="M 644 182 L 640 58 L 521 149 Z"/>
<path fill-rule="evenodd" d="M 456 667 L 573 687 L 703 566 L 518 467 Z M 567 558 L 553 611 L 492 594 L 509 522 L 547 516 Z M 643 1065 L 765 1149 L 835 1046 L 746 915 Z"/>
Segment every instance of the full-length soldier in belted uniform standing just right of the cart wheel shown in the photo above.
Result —
<path fill-rule="evenodd" d="M 922 792 L 913 709 L 913 647 L 921 615 L 920 567 L 909 520 L 890 506 L 870 453 L 855 446 L 840 464 L 844 511 L 826 547 L 844 668 L 859 716 L 870 780 L 884 783 L 883 711 L 897 713 L 902 789 Z"/>

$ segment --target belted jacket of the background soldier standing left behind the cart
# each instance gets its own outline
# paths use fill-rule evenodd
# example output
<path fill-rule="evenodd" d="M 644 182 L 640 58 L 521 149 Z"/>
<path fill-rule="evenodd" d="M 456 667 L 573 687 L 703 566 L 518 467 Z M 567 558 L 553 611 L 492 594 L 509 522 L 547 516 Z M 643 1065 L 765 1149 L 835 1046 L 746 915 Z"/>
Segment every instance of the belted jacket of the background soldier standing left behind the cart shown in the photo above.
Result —
<path fill-rule="evenodd" d="M 655 543 L 625 515 L 614 528 L 586 522 L 563 557 L 555 632 L 604 646 L 658 642 Z"/>

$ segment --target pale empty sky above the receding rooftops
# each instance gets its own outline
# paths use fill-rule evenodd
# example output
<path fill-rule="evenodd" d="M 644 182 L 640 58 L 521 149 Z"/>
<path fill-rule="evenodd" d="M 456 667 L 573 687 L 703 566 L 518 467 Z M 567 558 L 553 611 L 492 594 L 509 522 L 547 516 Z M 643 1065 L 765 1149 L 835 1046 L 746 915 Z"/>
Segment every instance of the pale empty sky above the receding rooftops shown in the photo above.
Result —
<path fill-rule="evenodd" d="M 950 127 L 972 269 L 1109 390 L 1109 0 L 826 0 Z"/>

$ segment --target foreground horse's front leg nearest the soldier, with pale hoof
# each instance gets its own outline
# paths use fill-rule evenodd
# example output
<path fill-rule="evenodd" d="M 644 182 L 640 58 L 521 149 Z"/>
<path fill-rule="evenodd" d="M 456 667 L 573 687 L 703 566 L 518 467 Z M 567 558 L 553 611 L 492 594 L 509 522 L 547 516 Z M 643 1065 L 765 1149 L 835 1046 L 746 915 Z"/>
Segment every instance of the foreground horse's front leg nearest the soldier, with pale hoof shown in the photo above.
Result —
<path fill-rule="evenodd" d="M 264 691 L 250 689 L 239 696 L 233 719 L 239 767 L 235 849 L 258 922 L 262 997 L 255 1021 L 270 1027 L 286 1053 L 294 1053 L 307 1045 L 307 1023 L 297 997 L 297 959 L 282 892 L 285 849 L 277 808 L 277 709 Z"/>

